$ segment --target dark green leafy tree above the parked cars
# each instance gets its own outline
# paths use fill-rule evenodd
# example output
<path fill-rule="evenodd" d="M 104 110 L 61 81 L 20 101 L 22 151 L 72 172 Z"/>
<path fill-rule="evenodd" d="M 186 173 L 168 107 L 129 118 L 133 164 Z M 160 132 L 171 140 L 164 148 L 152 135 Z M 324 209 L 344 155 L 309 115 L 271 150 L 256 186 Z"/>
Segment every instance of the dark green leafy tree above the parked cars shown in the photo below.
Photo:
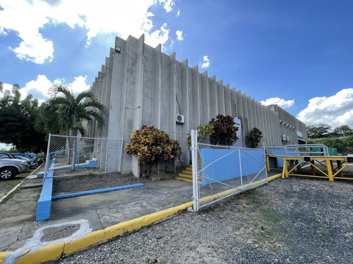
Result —
<path fill-rule="evenodd" d="M 20 100 L 18 84 L 0 99 L 0 142 L 13 144 L 17 151 L 46 151 L 45 134 L 35 130 L 38 101 L 28 95 Z"/>

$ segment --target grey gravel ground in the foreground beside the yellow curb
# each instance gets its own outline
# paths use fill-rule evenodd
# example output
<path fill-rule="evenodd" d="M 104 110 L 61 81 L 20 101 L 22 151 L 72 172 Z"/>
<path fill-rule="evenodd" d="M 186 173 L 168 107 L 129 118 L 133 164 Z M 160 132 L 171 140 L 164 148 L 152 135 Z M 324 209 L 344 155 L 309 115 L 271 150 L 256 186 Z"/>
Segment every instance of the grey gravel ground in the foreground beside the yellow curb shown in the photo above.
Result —
<path fill-rule="evenodd" d="M 51 263 L 353 263 L 353 182 L 274 180 Z"/>

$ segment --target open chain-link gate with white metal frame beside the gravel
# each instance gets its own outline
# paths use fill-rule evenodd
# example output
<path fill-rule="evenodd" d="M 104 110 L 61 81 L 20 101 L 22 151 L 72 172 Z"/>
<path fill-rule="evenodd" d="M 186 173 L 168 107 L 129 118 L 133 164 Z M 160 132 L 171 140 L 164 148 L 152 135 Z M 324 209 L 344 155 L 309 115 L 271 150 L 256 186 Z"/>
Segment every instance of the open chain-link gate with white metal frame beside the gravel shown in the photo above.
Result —
<path fill-rule="evenodd" d="M 192 130 L 191 151 L 195 211 L 268 182 L 263 149 L 198 143 Z"/>

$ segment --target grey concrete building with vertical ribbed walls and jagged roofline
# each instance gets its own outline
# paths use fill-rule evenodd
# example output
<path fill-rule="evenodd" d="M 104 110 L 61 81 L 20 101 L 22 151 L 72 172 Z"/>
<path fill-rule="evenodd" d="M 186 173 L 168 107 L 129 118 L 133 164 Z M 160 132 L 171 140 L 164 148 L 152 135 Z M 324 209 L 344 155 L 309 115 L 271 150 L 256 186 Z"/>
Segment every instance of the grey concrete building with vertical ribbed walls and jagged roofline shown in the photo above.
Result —
<path fill-rule="evenodd" d="M 124 139 L 128 143 L 140 125 L 155 125 L 180 142 L 183 154 L 175 165 L 186 166 L 191 154 L 186 138 L 198 125 L 207 125 L 217 114 L 231 115 L 238 125 L 237 146 L 246 146 L 246 135 L 253 127 L 263 132 L 260 146 L 284 146 L 305 143 L 306 125 L 278 106 L 263 106 L 198 66 L 179 62 L 175 53 L 162 53 L 129 36 L 115 39 L 91 91 L 107 106 L 105 125 L 88 127 L 92 137 Z M 241 132 L 240 132 L 241 131 Z M 122 173 L 138 177 L 137 158 L 124 154 Z"/>

